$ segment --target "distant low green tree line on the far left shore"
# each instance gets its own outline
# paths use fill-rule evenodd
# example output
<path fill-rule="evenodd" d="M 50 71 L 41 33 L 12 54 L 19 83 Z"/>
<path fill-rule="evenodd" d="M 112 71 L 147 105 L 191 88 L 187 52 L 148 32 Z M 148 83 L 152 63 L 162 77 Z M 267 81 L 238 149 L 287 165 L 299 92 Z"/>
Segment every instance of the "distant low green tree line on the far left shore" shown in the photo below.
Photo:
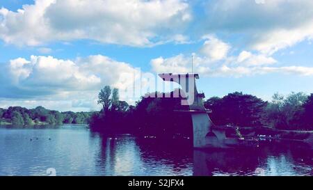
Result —
<path fill-rule="evenodd" d="M 91 112 L 59 112 L 45 109 L 42 106 L 35 109 L 10 106 L 8 109 L 0 109 L 0 121 L 2 124 L 13 125 L 83 124 L 88 123 L 91 114 Z"/>

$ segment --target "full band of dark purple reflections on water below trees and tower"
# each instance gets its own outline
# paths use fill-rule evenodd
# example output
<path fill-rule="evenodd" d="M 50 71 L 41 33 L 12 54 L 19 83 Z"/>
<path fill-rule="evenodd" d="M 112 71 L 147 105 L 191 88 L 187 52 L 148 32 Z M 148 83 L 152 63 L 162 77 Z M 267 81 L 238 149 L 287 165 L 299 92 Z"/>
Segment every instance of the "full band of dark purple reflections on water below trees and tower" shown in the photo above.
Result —
<path fill-rule="evenodd" d="M 105 175 L 312 175 L 313 152 L 293 143 L 194 150 L 190 141 L 101 136 Z"/>

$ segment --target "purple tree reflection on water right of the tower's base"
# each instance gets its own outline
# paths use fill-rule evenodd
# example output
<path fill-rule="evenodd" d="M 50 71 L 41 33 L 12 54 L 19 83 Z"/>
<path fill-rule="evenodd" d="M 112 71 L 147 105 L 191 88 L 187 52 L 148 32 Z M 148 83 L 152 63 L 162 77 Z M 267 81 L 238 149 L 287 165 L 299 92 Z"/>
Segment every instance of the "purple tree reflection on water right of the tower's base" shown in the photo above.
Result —
<path fill-rule="evenodd" d="M 302 147 L 302 148 L 300 148 Z M 312 175 L 313 151 L 296 143 L 262 143 L 258 150 L 195 150 L 193 175 Z"/>

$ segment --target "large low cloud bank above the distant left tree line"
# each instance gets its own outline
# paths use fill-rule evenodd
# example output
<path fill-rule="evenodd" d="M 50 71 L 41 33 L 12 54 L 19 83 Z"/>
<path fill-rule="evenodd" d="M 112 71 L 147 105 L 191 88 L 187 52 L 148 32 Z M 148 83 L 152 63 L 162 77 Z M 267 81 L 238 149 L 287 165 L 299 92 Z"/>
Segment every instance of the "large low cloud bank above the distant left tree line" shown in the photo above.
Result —
<path fill-rule="evenodd" d="M 139 72 L 128 63 L 102 55 L 74 60 L 31 56 L 13 59 L 0 67 L 1 106 L 16 102 L 87 111 L 97 109 L 99 89 L 111 85 L 125 90 L 136 80 L 129 76 Z"/>

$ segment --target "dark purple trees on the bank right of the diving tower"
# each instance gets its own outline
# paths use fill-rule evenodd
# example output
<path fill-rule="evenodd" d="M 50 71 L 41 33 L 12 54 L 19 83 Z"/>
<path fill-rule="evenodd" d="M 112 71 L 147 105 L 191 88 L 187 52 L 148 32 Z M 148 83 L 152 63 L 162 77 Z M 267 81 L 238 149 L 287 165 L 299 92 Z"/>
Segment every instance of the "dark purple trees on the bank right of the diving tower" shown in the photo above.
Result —
<path fill-rule="evenodd" d="M 288 130 L 313 130 L 313 94 L 275 93 L 270 102 L 253 95 L 230 93 L 204 102 L 216 125 L 272 127 Z"/>

